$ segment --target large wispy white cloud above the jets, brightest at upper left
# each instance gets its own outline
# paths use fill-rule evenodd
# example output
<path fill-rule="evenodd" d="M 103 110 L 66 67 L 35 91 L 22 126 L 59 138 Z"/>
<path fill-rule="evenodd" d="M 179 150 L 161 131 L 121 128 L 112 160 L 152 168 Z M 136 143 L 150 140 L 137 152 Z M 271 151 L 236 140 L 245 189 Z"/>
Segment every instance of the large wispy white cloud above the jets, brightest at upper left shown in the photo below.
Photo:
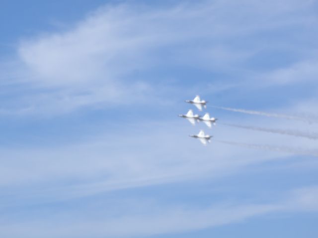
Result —
<path fill-rule="evenodd" d="M 260 1 L 245 3 L 249 7 L 234 1 L 157 9 L 108 5 L 68 30 L 24 39 L 11 71 L 14 75 L 18 72 L 22 79 L 17 82 L 32 92 L 12 102 L 25 106 L 6 105 L 1 111 L 65 113 L 88 105 L 138 102 L 143 95 L 151 97 L 158 92 L 158 82 L 140 72 L 184 65 L 242 73 L 240 66 L 263 47 L 258 34 L 313 24 L 310 14 L 298 13 L 311 1 L 271 1 L 270 9 Z M 277 39 L 279 47 L 281 41 Z M 291 40 L 290 44 L 295 43 Z M 160 96 L 165 97 L 164 87 Z"/>

